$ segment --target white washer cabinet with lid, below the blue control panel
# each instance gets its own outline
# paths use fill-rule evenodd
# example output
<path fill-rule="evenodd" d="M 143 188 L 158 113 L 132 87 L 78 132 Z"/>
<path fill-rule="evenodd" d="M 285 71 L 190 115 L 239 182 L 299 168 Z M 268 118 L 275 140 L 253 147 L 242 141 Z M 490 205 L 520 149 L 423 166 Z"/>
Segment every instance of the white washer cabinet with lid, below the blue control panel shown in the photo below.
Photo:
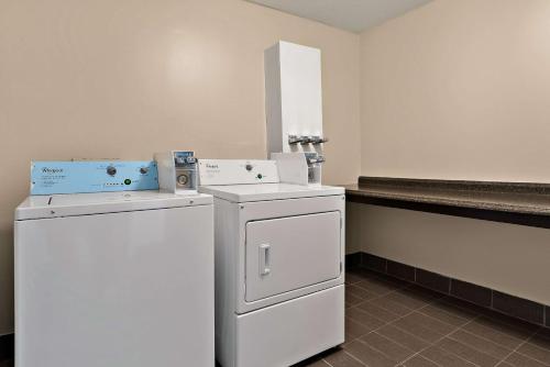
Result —
<path fill-rule="evenodd" d="M 207 194 L 28 198 L 15 366 L 213 367 L 212 220 Z"/>

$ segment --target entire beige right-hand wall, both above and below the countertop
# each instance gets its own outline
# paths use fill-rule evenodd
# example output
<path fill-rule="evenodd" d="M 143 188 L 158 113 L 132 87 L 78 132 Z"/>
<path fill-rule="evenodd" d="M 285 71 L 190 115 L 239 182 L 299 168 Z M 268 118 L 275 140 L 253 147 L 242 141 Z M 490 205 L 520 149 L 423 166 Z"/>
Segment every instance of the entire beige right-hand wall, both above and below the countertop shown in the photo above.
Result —
<path fill-rule="evenodd" d="M 550 182 L 549 40 L 548 0 L 436 0 L 363 33 L 362 174 Z M 363 251 L 550 304 L 549 230 L 349 213 Z"/>

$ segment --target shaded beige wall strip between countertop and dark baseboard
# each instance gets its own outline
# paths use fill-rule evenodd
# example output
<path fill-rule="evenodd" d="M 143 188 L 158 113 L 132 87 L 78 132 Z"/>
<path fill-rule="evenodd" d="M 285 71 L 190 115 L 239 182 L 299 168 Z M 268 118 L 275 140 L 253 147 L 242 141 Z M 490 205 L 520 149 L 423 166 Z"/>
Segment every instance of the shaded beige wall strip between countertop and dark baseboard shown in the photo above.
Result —
<path fill-rule="evenodd" d="M 550 304 L 549 230 L 352 205 L 363 251 Z"/>

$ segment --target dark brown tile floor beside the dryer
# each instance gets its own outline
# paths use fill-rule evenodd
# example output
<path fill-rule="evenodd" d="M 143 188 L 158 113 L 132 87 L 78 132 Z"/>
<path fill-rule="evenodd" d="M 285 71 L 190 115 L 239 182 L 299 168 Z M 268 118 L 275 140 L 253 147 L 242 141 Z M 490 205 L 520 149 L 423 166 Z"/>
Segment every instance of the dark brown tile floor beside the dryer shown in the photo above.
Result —
<path fill-rule="evenodd" d="M 346 274 L 346 342 L 297 366 L 550 366 L 550 330 L 364 269 Z"/>

